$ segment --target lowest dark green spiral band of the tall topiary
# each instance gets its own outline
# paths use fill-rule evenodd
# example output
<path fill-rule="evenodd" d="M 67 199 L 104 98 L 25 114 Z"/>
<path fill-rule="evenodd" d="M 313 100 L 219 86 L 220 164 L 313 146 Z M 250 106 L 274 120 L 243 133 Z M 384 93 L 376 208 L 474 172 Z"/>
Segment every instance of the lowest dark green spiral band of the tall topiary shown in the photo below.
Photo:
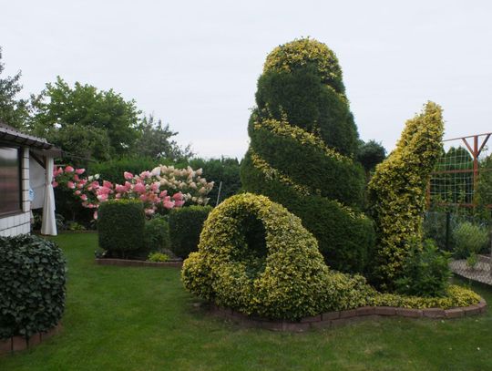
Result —
<path fill-rule="evenodd" d="M 351 210 L 338 201 L 302 190 L 299 184 L 283 179 L 282 174 L 263 170 L 252 163 L 251 152 L 243 159 L 242 180 L 249 191 L 274 195 L 302 219 L 302 225 L 316 237 L 324 262 L 338 271 L 365 273 L 368 255 L 374 246 L 373 222 L 364 214 Z"/>

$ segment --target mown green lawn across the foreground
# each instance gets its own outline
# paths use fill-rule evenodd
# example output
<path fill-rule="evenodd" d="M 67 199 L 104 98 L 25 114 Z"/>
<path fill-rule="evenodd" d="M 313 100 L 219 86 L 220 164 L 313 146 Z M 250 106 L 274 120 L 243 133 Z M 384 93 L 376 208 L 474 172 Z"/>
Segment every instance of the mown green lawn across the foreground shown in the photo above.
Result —
<path fill-rule="evenodd" d="M 96 234 L 56 237 L 64 329 L 0 370 L 489 370 L 492 314 L 387 318 L 304 334 L 242 329 L 193 304 L 175 268 L 97 266 Z M 474 287 L 492 303 L 492 290 Z"/>

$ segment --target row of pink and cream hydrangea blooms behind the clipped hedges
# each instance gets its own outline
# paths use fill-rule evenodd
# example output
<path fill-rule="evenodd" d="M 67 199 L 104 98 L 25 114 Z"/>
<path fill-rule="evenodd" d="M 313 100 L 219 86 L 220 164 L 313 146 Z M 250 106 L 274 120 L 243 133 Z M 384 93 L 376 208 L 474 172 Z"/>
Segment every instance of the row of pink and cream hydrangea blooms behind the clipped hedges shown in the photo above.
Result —
<path fill-rule="evenodd" d="M 53 171 L 53 187 L 63 185 L 74 192 L 82 206 L 95 209 L 97 219 L 99 204 L 108 200 L 140 200 L 144 203 L 146 215 L 152 215 L 159 208 L 170 210 L 183 206 L 185 202 L 206 205 L 207 194 L 213 188 L 213 181 L 201 178 L 202 170 L 175 169 L 173 166 L 160 165 L 155 169 L 134 175 L 125 171 L 125 184 L 113 184 L 108 180 L 99 180 L 99 175 L 83 177 L 85 169 L 65 170 L 58 167 Z"/>

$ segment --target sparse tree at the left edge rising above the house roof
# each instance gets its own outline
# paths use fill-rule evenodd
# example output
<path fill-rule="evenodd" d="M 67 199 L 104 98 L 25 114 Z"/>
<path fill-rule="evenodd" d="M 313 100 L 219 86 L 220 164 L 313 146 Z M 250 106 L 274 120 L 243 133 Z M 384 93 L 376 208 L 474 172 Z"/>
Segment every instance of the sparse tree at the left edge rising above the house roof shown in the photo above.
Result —
<path fill-rule="evenodd" d="M 13 77 L 2 77 L 4 69 L 0 46 L 0 120 L 14 128 L 23 129 L 29 117 L 29 108 L 26 99 L 16 98 L 22 90 L 21 72 Z"/>

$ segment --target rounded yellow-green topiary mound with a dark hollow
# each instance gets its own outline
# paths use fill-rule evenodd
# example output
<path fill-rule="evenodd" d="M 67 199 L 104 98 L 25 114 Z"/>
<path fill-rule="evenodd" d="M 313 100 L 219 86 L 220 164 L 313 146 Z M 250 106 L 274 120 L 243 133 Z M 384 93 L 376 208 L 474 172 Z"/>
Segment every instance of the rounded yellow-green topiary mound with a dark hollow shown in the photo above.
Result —
<path fill-rule="evenodd" d="M 194 294 L 269 318 L 354 308 L 374 296 L 364 277 L 329 271 L 299 218 L 250 193 L 233 196 L 210 212 L 199 252 L 190 254 L 181 276 Z"/>

